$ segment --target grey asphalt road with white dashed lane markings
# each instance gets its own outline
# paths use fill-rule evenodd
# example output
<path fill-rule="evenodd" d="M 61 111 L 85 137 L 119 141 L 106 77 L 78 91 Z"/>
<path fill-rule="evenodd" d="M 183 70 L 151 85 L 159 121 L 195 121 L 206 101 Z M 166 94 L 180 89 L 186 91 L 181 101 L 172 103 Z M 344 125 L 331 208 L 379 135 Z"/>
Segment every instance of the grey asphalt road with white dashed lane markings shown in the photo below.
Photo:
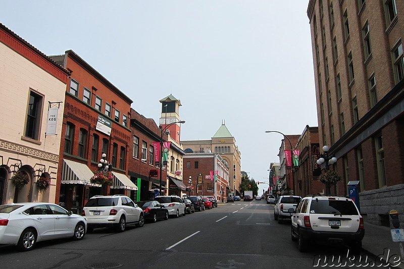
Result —
<path fill-rule="evenodd" d="M 1 267 L 10 269 L 313 268 L 318 254 L 339 255 L 342 264 L 334 267 L 349 267 L 342 266 L 349 260 L 341 248 L 314 246 L 300 253 L 290 239 L 290 222 L 274 221 L 273 205 L 265 201 L 221 204 L 124 233 L 95 229 L 82 241 L 40 242 L 29 252 L 0 247 Z"/>

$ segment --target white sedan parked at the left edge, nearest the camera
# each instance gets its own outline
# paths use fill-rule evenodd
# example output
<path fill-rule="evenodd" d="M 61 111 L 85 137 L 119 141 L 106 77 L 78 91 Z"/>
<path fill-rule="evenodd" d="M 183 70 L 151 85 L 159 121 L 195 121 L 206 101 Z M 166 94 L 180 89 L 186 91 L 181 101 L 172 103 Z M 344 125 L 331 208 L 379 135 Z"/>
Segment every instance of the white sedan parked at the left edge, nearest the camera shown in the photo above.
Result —
<path fill-rule="evenodd" d="M 84 238 L 86 219 L 53 203 L 0 205 L 0 244 L 31 250 L 36 242 L 72 237 Z"/>

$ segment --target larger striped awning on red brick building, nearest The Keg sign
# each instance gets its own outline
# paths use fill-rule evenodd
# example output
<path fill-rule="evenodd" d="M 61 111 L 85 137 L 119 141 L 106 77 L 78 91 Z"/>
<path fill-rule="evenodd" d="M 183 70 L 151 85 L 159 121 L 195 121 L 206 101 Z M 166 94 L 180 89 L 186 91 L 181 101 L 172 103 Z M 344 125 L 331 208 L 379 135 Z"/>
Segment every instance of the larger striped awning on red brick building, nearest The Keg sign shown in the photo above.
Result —
<path fill-rule="evenodd" d="M 101 187 L 100 184 L 93 184 L 90 179 L 94 173 L 85 164 L 64 159 L 62 169 L 62 184 L 83 184 L 94 187 Z"/>

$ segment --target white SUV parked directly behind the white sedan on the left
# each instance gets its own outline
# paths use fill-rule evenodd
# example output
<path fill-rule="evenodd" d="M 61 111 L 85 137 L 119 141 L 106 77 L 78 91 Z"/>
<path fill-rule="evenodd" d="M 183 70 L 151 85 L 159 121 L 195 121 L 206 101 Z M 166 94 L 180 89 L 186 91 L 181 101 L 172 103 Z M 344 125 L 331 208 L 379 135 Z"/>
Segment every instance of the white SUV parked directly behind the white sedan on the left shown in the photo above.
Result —
<path fill-rule="evenodd" d="M 87 219 L 87 231 L 97 227 L 115 227 L 125 231 L 126 225 L 144 224 L 143 210 L 125 195 L 95 195 L 84 205 L 82 216 Z"/>

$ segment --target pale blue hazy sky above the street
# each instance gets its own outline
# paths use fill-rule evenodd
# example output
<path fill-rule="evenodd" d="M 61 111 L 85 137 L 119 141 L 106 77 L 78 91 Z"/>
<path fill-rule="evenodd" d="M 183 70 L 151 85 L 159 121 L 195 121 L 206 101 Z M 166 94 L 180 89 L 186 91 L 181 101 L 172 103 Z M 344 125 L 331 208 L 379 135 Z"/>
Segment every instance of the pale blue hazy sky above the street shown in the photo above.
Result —
<path fill-rule="evenodd" d="M 241 170 L 268 182 L 282 135 L 318 126 L 308 0 L 4 0 L 0 23 L 45 55 L 73 50 L 159 123 L 181 101 L 181 140 L 225 123 Z M 267 184 L 260 184 L 260 194 Z"/>

